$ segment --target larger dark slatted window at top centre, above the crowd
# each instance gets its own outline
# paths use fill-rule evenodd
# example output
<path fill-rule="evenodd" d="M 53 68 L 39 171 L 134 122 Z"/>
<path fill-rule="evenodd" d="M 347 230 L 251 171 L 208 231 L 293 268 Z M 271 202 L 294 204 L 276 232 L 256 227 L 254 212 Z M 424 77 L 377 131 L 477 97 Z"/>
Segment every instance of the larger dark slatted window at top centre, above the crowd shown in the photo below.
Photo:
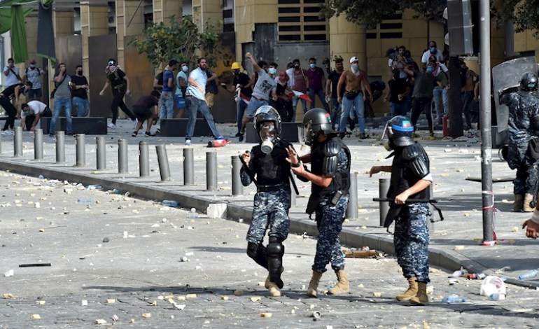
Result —
<path fill-rule="evenodd" d="M 328 20 L 320 17 L 323 0 L 279 0 L 279 41 L 328 41 Z"/>

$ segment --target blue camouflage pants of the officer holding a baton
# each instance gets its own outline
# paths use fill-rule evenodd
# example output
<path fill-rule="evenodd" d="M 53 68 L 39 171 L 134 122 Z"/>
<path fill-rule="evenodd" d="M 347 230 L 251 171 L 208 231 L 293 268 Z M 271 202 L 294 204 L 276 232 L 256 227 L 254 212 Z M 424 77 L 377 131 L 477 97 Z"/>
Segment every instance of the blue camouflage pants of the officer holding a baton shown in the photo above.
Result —
<path fill-rule="evenodd" d="M 427 203 L 408 204 L 403 207 L 395 223 L 395 253 L 405 278 L 415 276 L 416 281 L 428 279 L 428 227 Z"/>

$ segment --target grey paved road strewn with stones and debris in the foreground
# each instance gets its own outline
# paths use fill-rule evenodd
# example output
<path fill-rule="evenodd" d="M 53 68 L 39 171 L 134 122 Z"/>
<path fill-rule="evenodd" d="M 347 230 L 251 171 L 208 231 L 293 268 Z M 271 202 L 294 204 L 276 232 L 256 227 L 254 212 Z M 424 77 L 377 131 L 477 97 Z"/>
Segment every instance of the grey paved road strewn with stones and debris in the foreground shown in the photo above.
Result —
<path fill-rule="evenodd" d="M 510 286 L 507 300 L 492 302 L 479 296 L 479 281 L 460 279 L 449 286 L 447 273 L 437 270 L 433 304 L 397 302 L 393 296 L 405 281 L 393 258 L 349 259 L 349 295 L 308 298 L 304 286 L 316 240 L 295 235 L 286 241 L 284 296 L 270 298 L 259 286 L 265 272 L 245 255 L 243 223 L 5 172 L 0 172 L 0 189 L 0 270 L 14 270 L 13 276 L 0 277 L 0 293 L 13 295 L 0 299 L 0 328 L 91 327 L 97 319 L 113 323 L 115 314 L 120 328 L 525 328 L 538 323 L 538 291 Z M 18 267 L 35 262 L 52 266 Z M 325 274 L 321 286 L 327 289 L 334 280 Z M 235 290 L 244 294 L 235 296 Z M 468 302 L 442 304 L 450 293 Z M 171 295 L 183 310 L 167 301 Z M 314 321 L 313 311 L 322 318 Z M 32 314 L 41 319 L 31 319 Z"/>

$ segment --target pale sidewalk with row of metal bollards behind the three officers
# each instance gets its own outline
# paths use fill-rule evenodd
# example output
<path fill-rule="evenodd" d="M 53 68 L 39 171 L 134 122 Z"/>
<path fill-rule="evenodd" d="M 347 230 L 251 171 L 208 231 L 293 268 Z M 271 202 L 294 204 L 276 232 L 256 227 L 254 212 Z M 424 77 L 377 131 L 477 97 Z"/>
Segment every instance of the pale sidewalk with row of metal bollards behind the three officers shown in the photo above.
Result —
<path fill-rule="evenodd" d="M 86 162 L 84 168 L 72 167 L 75 163 L 74 139 L 66 137 L 66 164 L 55 164 L 54 140 L 44 137 L 45 158 L 41 162 L 31 160 L 34 158 L 33 134 L 24 132 L 24 157 L 13 158 L 13 137 L 4 137 L 2 140 L 2 153 L 0 156 L 0 169 L 27 174 L 31 176 L 43 175 L 47 179 L 60 179 L 77 181 L 85 185 L 96 184 L 105 189 L 117 188 L 129 191 L 132 195 L 150 200 L 176 200 L 181 207 L 205 211 L 208 204 L 228 203 L 228 218 L 238 220 L 243 218 L 249 221 L 251 216 L 252 198 L 255 193 L 253 186 L 244 188 L 244 195 L 232 197 L 231 156 L 250 149 L 252 145 L 238 144 L 232 139 L 232 144 L 225 148 L 218 148 L 218 186 L 215 192 L 206 191 L 206 163 L 207 151 L 205 138 L 193 139 L 195 151 L 195 186 L 184 187 L 182 169 L 183 138 L 165 137 L 137 137 L 132 138 L 132 123 L 123 120 L 116 132 L 109 132 L 107 137 L 107 170 L 95 172 L 95 139 L 86 137 Z M 219 125 L 225 136 L 235 134 L 233 125 Z M 421 132 L 421 134 L 425 134 Z M 119 137 L 129 142 L 129 169 L 125 176 L 118 174 L 118 142 Z M 151 176 L 138 179 L 138 144 L 146 141 L 150 145 Z M 342 232 L 342 242 L 346 246 L 370 246 L 377 250 L 393 253 L 391 235 L 383 228 L 379 228 L 379 212 L 377 202 L 379 178 L 388 178 L 388 175 L 379 175 L 372 179 L 366 174 L 372 165 L 388 165 L 385 160 L 388 153 L 379 142 L 370 139 L 359 142 L 356 137 L 345 139 L 352 152 L 352 170 L 358 172 L 358 198 L 359 218 L 346 220 Z M 430 156 L 430 167 L 434 176 L 434 196 L 444 212 L 445 221 L 435 223 L 431 231 L 430 262 L 447 269 L 458 269 L 464 266 L 472 272 L 486 272 L 487 274 L 506 267 L 501 276 L 507 276 L 508 283 L 521 286 L 539 286 L 539 279 L 533 281 L 519 281 L 515 279 L 518 274 L 528 269 L 539 267 L 539 243 L 526 239 L 521 223 L 528 214 L 514 214 L 512 210 L 512 183 L 495 183 L 496 195 L 496 246 L 479 246 L 482 239 L 482 213 L 481 185 L 465 181 L 468 176 L 480 176 L 480 150 L 477 140 L 463 141 L 421 141 L 426 146 Z M 155 145 L 165 144 L 172 174 L 172 181 L 160 183 Z M 307 151 L 300 148 L 300 153 Z M 505 162 L 498 160 L 497 150 L 493 151 L 493 176 L 512 176 L 512 171 Z M 297 197 L 296 206 L 290 209 L 290 218 L 293 220 L 291 230 L 295 233 L 316 235 L 316 225 L 310 221 L 304 209 L 309 196 L 309 184 L 297 181 L 300 196 Z M 393 228 L 391 228 L 393 230 Z M 507 268 L 510 267 L 510 268 Z"/>

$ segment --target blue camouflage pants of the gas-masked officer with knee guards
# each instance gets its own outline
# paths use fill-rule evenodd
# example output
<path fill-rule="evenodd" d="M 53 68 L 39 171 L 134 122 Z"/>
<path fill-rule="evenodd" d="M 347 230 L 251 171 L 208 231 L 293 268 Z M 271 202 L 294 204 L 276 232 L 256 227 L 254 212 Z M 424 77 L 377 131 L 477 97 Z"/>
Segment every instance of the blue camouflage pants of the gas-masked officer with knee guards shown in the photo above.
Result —
<path fill-rule="evenodd" d="M 272 192 L 256 193 L 253 220 L 247 232 L 247 241 L 254 244 L 262 243 L 268 229 L 269 237 L 286 239 L 290 231 L 288 209 L 290 209 L 290 190 L 281 188 Z"/>

